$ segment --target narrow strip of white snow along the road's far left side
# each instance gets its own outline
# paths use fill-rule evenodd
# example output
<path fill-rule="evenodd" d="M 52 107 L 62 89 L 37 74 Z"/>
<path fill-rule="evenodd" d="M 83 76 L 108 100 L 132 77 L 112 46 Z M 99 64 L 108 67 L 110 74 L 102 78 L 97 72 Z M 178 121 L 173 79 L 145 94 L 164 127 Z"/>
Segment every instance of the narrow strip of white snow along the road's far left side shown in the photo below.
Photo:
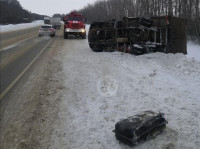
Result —
<path fill-rule="evenodd" d="M 26 28 L 36 27 L 42 24 L 44 24 L 43 20 L 33 21 L 32 23 L 0 25 L 0 32 L 3 33 L 13 30 L 26 29 Z"/>

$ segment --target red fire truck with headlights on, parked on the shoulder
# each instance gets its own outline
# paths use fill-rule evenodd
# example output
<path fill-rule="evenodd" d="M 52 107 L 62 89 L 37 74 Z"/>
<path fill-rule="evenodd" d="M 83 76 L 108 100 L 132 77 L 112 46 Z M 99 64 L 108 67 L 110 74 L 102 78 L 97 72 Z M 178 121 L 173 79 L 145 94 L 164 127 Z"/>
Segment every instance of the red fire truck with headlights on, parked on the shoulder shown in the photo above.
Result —
<path fill-rule="evenodd" d="M 85 24 L 86 19 L 83 15 L 76 12 L 71 12 L 63 18 L 64 25 L 64 39 L 68 38 L 68 35 L 75 35 L 86 39 Z"/>

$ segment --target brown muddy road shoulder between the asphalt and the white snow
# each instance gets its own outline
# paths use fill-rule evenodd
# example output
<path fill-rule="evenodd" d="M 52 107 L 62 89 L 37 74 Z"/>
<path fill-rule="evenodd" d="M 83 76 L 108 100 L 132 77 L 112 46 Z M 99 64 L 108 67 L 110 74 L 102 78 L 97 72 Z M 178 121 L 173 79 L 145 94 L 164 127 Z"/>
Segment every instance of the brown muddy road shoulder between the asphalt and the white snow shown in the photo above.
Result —
<path fill-rule="evenodd" d="M 61 35 L 58 35 L 58 39 Z M 62 91 L 59 40 L 0 101 L 0 148 L 47 148 Z M 59 57 L 59 59 L 57 58 Z"/>

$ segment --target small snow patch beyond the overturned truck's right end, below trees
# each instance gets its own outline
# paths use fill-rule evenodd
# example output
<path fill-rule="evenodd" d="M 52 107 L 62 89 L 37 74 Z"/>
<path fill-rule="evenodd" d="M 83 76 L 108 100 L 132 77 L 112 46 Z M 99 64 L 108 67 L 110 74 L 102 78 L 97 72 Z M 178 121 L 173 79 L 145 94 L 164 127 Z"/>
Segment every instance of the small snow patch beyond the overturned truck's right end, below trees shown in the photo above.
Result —
<path fill-rule="evenodd" d="M 191 41 L 187 43 L 187 57 L 194 58 L 200 61 L 200 45 L 194 44 Z"/>

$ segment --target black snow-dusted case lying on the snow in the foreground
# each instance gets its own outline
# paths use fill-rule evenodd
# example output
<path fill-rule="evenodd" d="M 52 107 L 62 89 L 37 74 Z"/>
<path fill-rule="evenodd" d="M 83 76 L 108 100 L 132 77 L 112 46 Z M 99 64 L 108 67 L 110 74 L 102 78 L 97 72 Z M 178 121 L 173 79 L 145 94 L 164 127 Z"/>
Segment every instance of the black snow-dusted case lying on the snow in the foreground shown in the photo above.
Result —
<path fill-rule="evenodd" d="M 145 111 L 116 123 L 114 132 L 119 141 L 133 146 L 157 136 L 166 124 L 162 113 Z"/>

